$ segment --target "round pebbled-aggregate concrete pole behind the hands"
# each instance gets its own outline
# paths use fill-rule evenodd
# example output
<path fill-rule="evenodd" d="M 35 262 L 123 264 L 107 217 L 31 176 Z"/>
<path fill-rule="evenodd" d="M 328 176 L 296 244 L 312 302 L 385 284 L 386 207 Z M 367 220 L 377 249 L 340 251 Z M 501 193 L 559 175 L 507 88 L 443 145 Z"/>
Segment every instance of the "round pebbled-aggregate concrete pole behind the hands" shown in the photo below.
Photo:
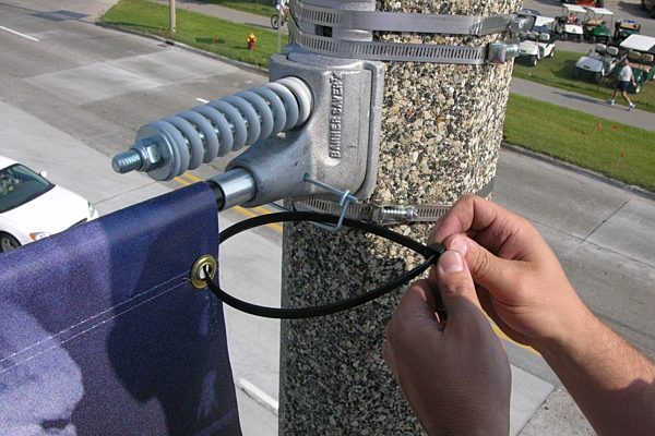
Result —
<path fill-rule="evenodd" d="M 382 0 L 378 10 L 489 16 L 515 12 L 520 4 L 520 0 Z M 480 47 L 498 38 L 385 34 L 373 39 Z M 451 204 L 492 181 L 511 70 L 511 63 L 389 62 L 372 199 Z M 430 228 L 412 223 L 396 230 L 425 241 Z M 421 261 L 376 238 L 347 230 L 332 234 L 310 225 L 287 225 L 283 251 L 284 306 L 342 300 Z M 281 435 L 421 433 L 382 359 L 384 326 L 401 294 L 335 316 L 283 322 Z"/>

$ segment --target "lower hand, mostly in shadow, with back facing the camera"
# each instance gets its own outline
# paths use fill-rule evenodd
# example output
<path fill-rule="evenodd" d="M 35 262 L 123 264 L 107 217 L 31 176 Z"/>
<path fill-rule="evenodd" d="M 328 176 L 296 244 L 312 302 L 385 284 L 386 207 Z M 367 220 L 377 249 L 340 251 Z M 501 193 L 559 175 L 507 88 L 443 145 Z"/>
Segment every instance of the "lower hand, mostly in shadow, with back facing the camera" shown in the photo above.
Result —
<path fill-rule="evenodd" d="M 430 279 L 403 295 L 386 326 L 384 360 L 428 435 L 509 433 L 508 356 L 458 253 L 445 252 Z"/>

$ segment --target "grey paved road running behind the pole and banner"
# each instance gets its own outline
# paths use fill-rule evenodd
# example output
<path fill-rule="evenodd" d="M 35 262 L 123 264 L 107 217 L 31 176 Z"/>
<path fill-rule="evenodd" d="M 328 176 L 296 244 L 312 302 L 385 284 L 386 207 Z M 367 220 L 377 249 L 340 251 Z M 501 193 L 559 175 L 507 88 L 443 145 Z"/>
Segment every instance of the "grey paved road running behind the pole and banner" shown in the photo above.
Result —
<path fill-rule="evenodd" d="M 92 17 L 108 3 L 59 2 L 57 12 L 45 1 L 0 4 L 0 25 L 38 39 L 0 33 L 2 153 L 48 170 L 55 182 L 87 196 L 102 213 L 211 175 L 224 165 L 218 161 L 168 184 L 140 174 L 116 175 L 109 157 L 131 144 L 139 126 L 195 106 L 198 98 L 225 96 L 265 81 L 231 64 L 94 26 Z M 496 192 L 499 203 L 536 222 L 592 310 L 655 355 L 655 204 L 508 152 L 501 154 Z M 233 213 L 221 218 L 225 225 L 239 217 Z M 224 283 L 241 289 L 246 298 L 274 302 L 278 287 L 271 278 L 279 276 L 279 234 L 263 229 L 247 238 L 240 245 L 258 250 L 236 255 L 226 246 Z M 253 277 L 251 268 L 261 275 Z M 262 296 L 262 289 L 271 292 Z M 276 397 L 277 324 L 229 310 L 227 319 L 235 376 Z M 586 424 L 570 398 L 557 390 L 558 382 L 543 361 L 508 348 L 515 379 L 527 380 L 515 389 L 534 395 L 513 404 L 514 416 L 531 419 L 521 434 L 584 431 Z M 242 393 L 239 401 L 246 435 L 275 434 L 273 414 Z M 514 429 L 521 427 L 521 420 L 514 421 Z"/>

